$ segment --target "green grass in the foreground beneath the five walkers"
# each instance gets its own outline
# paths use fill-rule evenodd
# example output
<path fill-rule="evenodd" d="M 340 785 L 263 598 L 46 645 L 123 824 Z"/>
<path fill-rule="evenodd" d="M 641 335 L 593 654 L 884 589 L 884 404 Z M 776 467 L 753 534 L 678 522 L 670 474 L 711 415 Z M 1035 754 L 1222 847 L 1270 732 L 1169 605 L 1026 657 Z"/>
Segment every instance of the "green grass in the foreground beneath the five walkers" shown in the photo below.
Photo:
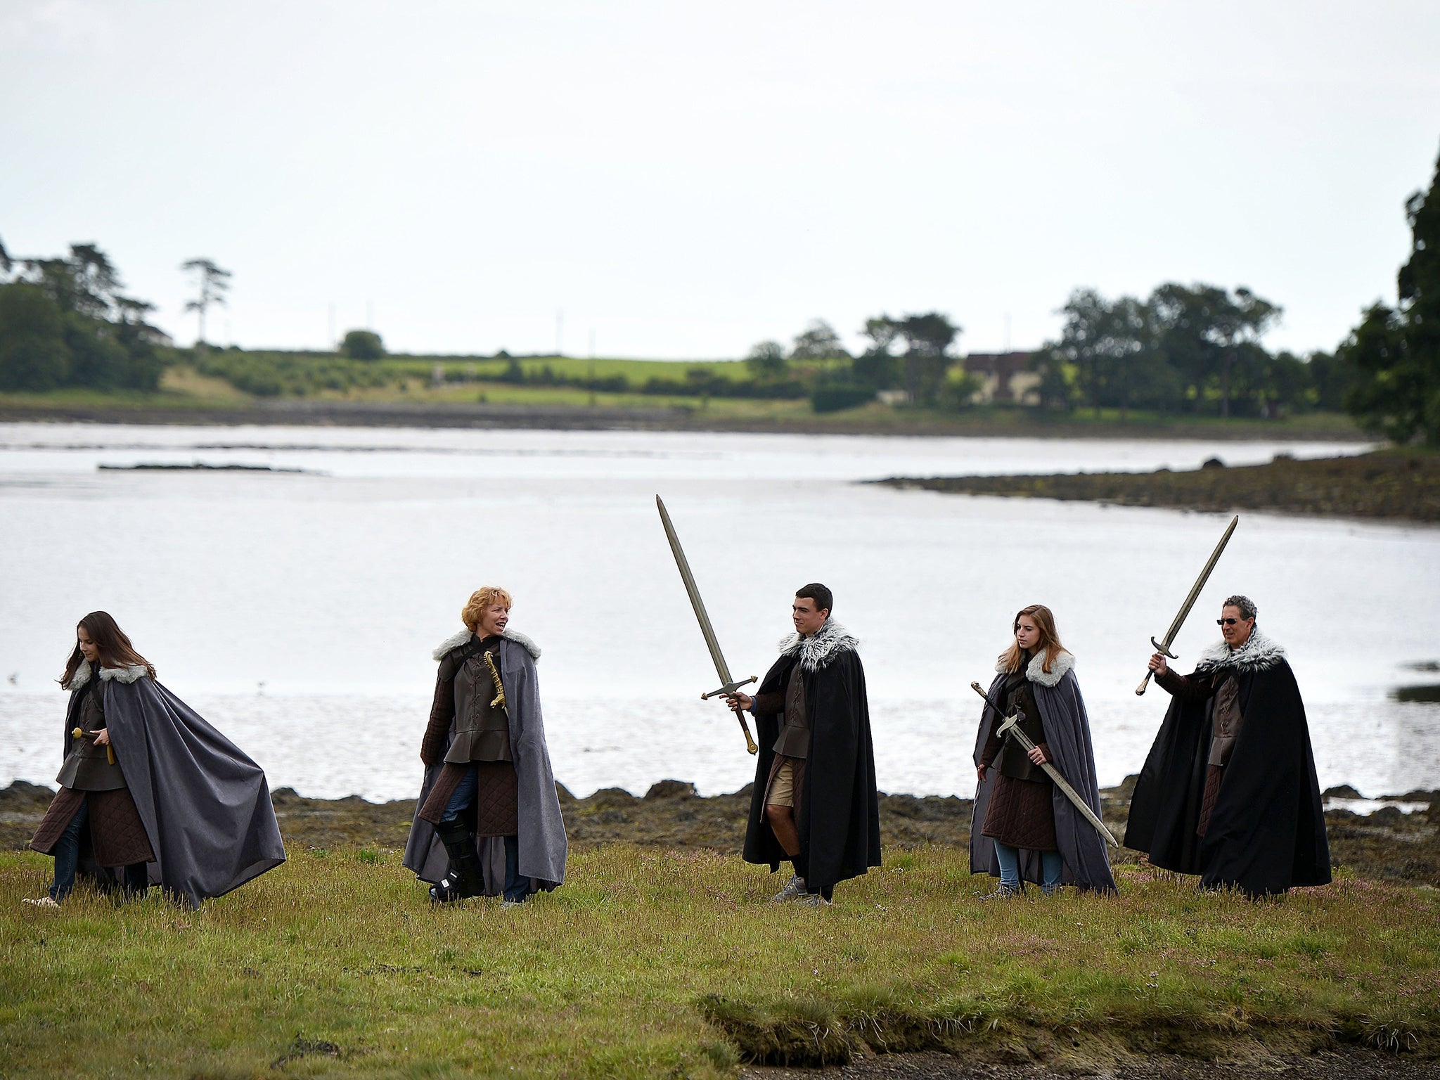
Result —
<path fill-rule="evenodd" d="M 1251 903 L 1128 868 L 1119 897 L 984 904 L 963 852 L 924 848 L 815 912 L 769 907 L 778 881 L 733 857 L 613 845 L 526 907 L 436 910 L 397 861 L 300 850 L 199 912 L 81 893 L 45 912 L 19 900 L 50 860 L 0 855 L 0 1073 L 706 1077 L 861 1040 L 1048 1060 L 1440 1045 L 1434 891 Z"/>

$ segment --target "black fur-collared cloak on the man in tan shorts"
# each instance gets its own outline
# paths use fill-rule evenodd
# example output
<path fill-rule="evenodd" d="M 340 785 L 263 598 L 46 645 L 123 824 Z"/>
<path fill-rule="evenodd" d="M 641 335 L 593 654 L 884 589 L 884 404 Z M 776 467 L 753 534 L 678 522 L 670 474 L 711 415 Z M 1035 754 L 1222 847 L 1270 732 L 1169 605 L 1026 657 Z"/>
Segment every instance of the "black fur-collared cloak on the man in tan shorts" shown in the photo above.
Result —
<path fill-rule="evenodd" d="M 811 888 L 834 886 L 880 865 L 880 796 L 858 644 L 834 619 L 808 638 L 792 634 L 780 642 L 780 658 L 756 691 L 783 691 L 791 670 L 801 665 L 811 740 L 795 825 L 801 865 L 806 867 L 805 884 Z M 782 723 L 782 713 L 755 714 L 760 753 L 744 829 L 744 861 L 769 864 L 772 873 L 789 858 L 765 819 L 765 789 Z"/>

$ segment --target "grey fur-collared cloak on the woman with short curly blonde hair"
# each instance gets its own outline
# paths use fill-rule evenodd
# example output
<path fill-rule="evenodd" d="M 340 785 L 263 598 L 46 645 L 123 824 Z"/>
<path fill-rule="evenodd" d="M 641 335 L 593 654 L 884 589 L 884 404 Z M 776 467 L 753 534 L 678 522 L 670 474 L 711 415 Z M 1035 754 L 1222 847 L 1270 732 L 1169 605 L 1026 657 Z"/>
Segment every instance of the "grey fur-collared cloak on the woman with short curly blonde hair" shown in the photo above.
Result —
<path fill-rule="evenodd" d="M 431 654 L 442 661 L 446 654 L 462 649 L 475 638 L 468 629 L 446 638 Z M 536 661 L 540 647 L 516 631 L 505 629 L 500 641 L 500 680 L 505 688 L 505 713 L 510 720 L 510 752 L 518 780 L 520 818 L 520 876 L 530 878 L 530 891 L 552 890 L 564 881 L 564 860 L 569 841 L 560 816 L 560 796 L 550 772 L 550 749 L 544 740 L 544 717 L 540 713 L 540 683 Z M 455 723 L 446 739 L 446 749 L 455 739 Z M 435 827 L 420 816 L 431 796 L 445 755 L 425 769 L 420 798 L 410 821 L 410 838 L 405 845 L 403 864 L 422 881 L 438 883 L 449 870 L 449 855 L 435 835 Z M 505 881 L 505 850 L 500 837 L 477 840 L 480 861 L 485 873 L 485 896 L 500 896 Z"/>

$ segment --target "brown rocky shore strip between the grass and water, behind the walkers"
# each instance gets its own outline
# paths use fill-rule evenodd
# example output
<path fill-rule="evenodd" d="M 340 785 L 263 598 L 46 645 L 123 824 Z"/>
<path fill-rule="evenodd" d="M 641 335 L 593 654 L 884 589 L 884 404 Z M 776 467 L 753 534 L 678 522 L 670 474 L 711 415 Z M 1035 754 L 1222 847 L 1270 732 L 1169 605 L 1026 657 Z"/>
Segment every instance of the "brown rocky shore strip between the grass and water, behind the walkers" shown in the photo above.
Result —
<path fill-rule="evenodd" d="M 1135 778 L 1130 776 L 1117 788 L 1100 792 L 1104 824 L 1117 837 L 1125 834 L 1133 789 Z M 1355 792 L 1332 788 L 1326 795 L 1354 798 Z M 50 796 L 49 788 L 23 780 L 0 789 L 0 845 L 23 848 Z M 413 799 L 382 804 L 359 796 L 308 799 L 289 788 L 276 791 L 274 799 L 285 842 L 311 848 L 403 848 L 415 812 Z M 1404 814 L 1387 806 L 1367 816 L 1345 809 L 1326 812 L 1332 860 L 1364 877 L 1440 887 L 1440 791 L 1410 792 L 1394 801 L 1426 804 L 1428 809 Z M 739 854 L 750 786 L 703 798 L 691 783 L 661 780 L 644 796 L 605 788 L 585 799 L 576 799 L 562 786 L 560 806 L 570 842 L 579 847 L 628 842 Z M 891 851 L 926 844 L 965 847 L 971 841 L 971 801 L 881 795 L 880 832 L 881 842 Z M 1123 858 L 1138 861 L 1139 854 L 1126 852 Z"/>

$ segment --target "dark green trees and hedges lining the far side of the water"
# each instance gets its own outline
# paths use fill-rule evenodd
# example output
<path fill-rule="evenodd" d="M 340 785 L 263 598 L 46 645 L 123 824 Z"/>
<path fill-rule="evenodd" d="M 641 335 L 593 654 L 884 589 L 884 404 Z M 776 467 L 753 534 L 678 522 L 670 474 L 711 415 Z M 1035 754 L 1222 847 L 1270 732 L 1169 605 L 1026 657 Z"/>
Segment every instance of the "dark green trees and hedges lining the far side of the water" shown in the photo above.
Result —
<path fill-rule="evenodd" d="M 1030 354 L 1028 393 L 1044 413 L 1077 409 L 1267 416 L 1345 410 L 1367 431 L 1397 442 L 1440 446 L 1440 161 L 1430 189 L 1405 203 L 1411 253 L 1397 281 L 1398 302 L 1375 304 L 1333 353 L 1300 357 L 1272 353 L 1266 333 L 1279 304 L 1250 289 L 1166 282 L 1148 297 L 1107 298 L 1076 289 L 1060 312 L 1058 337 Z M 229 272 L 207 259 L 181 269 L 196 276 L 186 310 L 200 317 L 225 302 Z M 147 320 L 151 304 L 124 292 L 109 258 L 94 243 L 65 256 L 12 258 L 0 245 L 0 389 L 58 386 L 153 390 L 164 366 L 167 338 Z M 842 409 L 894 392 L 913 408 L 968 409 L 981 383 L 955 353 L 962 327 L 937 311 L 865 320 L 865 346 L 851 354 L 834 327 L 815 320 L 786 348 L 760 341 L 746 357 L 744 379 L 691 366 L 683 377 L 651 377 L 632 386 L 625 376 L 563 376 L 524 367 L 504 351 L 507 366 L 491 380 L 572 384 L 590 390 L 795 399 L 816 410 Z M 350 331 L 343 357 L 317 356 L 328 367 L 325 387 L 376 384 L 357 360 L 380 360 L 373 331 Z M 193 356 L 203 370 L 259 395 L 305 392 L 315 383 L 310 360 L 240 350 Z"/>

